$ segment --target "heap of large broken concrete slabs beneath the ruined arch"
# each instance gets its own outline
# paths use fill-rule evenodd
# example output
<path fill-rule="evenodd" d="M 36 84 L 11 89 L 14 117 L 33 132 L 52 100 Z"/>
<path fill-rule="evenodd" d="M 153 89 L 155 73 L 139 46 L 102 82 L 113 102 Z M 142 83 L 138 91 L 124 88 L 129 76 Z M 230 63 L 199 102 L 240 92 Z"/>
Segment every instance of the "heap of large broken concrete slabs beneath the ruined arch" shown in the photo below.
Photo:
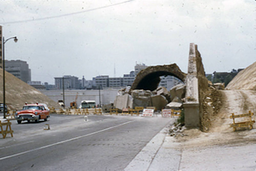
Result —
<path fill-rule="evenodd" d="M 150 90 L 132 90 L 125 89 L 119 91 L 118 96 L 114 101 L 114 108 L 119 110 L 125 108 L 135 108 L 142 106 L 155 106 L 157 111 L 162 109 L 175 109 L 178 110 L 182 107 L 185 97 L 185 85 L 179 84 L 173 89 L 168 91 L 164 87 L 158 87 L 154 91 Z"/>

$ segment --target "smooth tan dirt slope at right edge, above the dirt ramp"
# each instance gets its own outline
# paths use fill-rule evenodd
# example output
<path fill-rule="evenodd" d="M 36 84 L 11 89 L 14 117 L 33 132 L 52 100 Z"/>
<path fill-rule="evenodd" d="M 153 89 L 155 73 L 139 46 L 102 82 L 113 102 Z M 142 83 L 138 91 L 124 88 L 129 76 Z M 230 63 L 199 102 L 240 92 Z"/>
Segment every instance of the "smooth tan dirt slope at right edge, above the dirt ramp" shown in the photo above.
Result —
<path fill-rule="evenodd" d="M 229 90 L 256 90 L 256 62 L 240 71 L 228 84 Z"/>

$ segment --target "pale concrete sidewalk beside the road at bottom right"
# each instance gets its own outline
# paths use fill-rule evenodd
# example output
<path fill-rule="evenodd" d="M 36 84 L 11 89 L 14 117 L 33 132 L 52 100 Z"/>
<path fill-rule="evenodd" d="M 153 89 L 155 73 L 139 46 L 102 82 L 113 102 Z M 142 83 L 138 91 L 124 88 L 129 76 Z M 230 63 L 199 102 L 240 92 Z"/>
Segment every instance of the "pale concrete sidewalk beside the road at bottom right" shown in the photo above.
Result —
<path fill-rule="evenodd" d="M 168 127 L 157 134 L 126 166 L 127 170 L 141 171 L 190 171 L 190 170 L 248 170 L 256 171 L 256 140 L 244 140 L 233 144 L 196 145 L 194 140 L 177 142 L 170 137 Z M 256 133 L 256 129 L 249 132 Z M 243 132 L 229 133 L 243 134 Z M 204 139 L 218 141 L 211 133 L 203 133 Z M 202 137 L 198 138 L 198 144 Z M 225 137 L 224 137 L 225 138 Z M 202 139 L 202 141 L 204 141 Z"/>

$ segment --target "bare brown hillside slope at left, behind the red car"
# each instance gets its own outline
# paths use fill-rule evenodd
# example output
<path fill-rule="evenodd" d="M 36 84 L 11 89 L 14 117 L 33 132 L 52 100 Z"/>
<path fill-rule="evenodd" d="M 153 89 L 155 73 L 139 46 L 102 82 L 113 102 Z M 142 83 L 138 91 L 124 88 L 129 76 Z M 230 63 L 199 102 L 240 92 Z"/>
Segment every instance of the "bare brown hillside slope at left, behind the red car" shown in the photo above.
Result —
<path fill-rule="evenodd" d="M 31 87 L 26 82 L 16 78 L 12 74 L 5 72 L 5 100 L 8 109 L 22 109 L 25 102 L 46 103 L 48 106 L 59 108 L 57 102 L 51 100 L 40 91 Z M 3 103 L 3 69 L 0 68 L 0 102 Z"/>

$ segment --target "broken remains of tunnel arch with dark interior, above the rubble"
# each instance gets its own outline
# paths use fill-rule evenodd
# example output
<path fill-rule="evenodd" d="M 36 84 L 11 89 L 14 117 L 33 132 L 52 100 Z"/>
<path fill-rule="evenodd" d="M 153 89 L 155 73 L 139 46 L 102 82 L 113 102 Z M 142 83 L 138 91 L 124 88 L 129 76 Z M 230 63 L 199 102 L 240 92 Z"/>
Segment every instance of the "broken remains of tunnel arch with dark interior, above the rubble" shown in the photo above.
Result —
<path fill-rule="evenodd" d="M 156 90 L 159 82 L 161 81 L 160 76 L 172 75 L 185 82 L 186 74 L 183 73 L 180 68 L 173 63 L 171 65 L 163 66 L 152 66 L 141 70 L 131 87 L 131 90 L 143 89 L 143 90 Z"/>

